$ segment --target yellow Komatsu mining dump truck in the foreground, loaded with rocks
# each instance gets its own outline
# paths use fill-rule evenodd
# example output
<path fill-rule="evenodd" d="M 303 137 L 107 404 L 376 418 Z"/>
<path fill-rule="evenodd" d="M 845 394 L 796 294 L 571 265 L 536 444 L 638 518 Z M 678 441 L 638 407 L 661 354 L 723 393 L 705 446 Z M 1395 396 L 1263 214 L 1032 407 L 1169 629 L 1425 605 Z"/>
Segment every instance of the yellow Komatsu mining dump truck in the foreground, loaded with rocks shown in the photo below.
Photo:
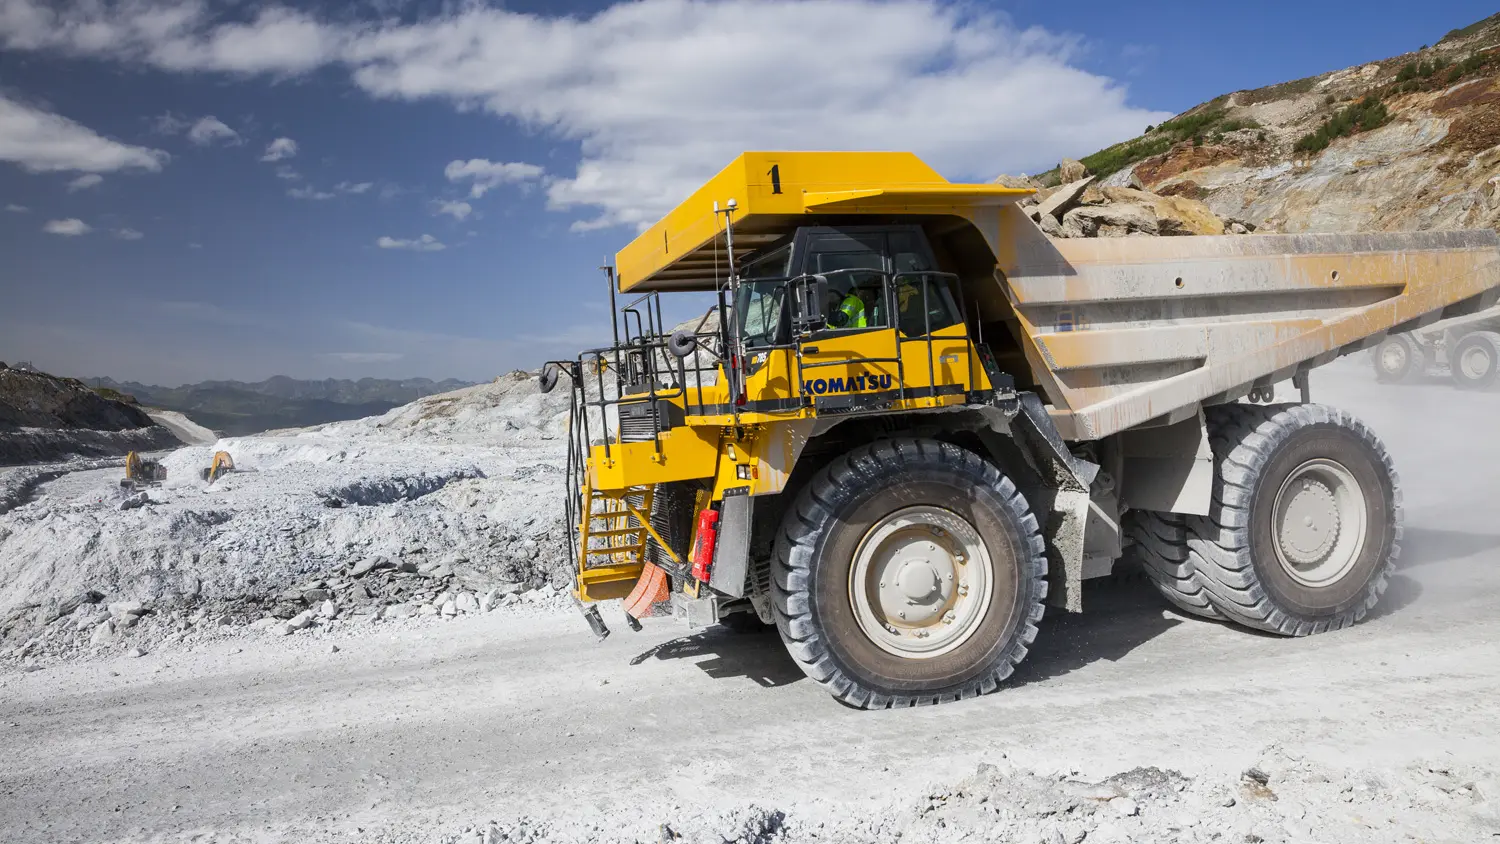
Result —
<path fill-rule="evenodd" d="M 1496 232 L 1052 240 L 1029 193 L 744 153 L 615 256 L 615 342 L 542 373 L 596 634 L 774 624 L 876 709 L 994 691 L 1120 561 L 1274 634 L 1376 606 L 1396 474 L 1308 373 L 1492 306 Z"/>

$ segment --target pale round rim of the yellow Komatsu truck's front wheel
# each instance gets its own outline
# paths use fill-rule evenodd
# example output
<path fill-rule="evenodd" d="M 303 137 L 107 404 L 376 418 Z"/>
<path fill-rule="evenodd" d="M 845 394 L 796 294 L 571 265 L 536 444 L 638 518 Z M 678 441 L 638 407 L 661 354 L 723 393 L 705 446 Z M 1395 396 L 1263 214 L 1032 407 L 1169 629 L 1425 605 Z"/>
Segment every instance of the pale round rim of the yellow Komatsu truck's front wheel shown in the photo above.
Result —
<path fill-rule="evenodd" d="M 886 654 L 940 657 L 984 622 L 990 553 L 966 519 L 908 507 L 876 522 L 855 549 L 849 601 L 860 630 Z"/>

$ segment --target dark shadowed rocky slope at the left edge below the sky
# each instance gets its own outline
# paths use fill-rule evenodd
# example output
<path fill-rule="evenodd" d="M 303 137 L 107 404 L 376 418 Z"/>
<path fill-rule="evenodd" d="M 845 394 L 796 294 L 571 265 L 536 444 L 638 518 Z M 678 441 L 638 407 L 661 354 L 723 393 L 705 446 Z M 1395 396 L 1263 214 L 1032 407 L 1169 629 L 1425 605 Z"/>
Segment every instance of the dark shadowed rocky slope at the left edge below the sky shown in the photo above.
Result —
<path fill-rule="evenodd" d="M 178 439 L 128 396 L 0 364 L 0 466 L 176 445 Z"/>

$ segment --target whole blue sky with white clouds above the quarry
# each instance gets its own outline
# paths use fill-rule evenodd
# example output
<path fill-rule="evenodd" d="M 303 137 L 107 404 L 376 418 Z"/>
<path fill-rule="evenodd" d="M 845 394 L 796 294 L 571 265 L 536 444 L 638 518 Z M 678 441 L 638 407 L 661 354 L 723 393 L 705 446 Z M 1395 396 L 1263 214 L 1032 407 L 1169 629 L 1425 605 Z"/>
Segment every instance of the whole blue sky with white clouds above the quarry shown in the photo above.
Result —
<path fill-rule="evenodd" d="M 602 343 L 598 267 L 740 151 L 1040 172 L 1494 12 L 0 0 L 0 360 L 484 381 Z"/>

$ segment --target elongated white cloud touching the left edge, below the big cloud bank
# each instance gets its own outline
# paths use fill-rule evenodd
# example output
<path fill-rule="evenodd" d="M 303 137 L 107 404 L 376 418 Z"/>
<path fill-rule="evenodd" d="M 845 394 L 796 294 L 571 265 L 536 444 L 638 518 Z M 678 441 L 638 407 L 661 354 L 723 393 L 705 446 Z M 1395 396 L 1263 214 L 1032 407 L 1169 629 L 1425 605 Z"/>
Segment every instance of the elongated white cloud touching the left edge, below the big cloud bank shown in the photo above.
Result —
<path fill-rule="evenodd" d="M 6 7 L 0 6 L 0 31 Z M 64 169 L 114 172 L 118 169 L 162 169 L 166 153 L 111 141 L 66 117 L 6 99 L 0 94 L 0 160 L 21 165 L 30 172 Z"/>

